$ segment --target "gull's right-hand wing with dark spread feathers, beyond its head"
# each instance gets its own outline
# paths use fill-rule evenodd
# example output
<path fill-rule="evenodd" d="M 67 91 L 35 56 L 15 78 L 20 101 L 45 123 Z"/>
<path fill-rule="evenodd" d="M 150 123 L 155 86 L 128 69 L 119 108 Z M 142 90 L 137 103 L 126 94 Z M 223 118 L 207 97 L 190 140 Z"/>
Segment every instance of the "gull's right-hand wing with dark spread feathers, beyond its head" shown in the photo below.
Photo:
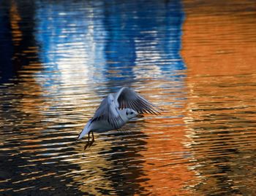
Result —
<path fill-rule="evenodd" d="M 138 93 L 135 93 L 135 91 L 129 87 L 122 87 L 121 90 L 115 94 L 115 98 L 118 109 L 130 108 L 140 114 L 160 114 L 159 110 L 161 109 L 147 101 L 146 98 L 138 95 Z"/>

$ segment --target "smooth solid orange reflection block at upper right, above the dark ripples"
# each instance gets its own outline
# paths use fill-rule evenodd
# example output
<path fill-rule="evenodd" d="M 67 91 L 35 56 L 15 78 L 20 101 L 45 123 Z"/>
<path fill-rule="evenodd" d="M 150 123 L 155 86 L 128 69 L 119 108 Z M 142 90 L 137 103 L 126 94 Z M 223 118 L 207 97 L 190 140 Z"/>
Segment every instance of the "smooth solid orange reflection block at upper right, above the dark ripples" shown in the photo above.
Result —
<path fill-rule="evenodd" d="M 185 0 L 184 9 L 181 54 L 189 74 L 234 75 L 256 70 L 255 1 Z"/>

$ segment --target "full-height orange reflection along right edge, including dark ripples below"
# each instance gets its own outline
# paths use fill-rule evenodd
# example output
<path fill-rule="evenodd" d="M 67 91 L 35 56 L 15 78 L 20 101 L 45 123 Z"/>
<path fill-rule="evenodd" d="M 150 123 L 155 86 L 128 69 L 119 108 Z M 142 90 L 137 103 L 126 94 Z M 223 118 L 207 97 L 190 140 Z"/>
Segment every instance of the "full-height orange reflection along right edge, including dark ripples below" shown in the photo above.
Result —
<path fill-rule="evenodd" d="M 204 179 L 197 192 L 255 193 L 255 8 L 255 1 L 184 1 L 186 122 Z"/>

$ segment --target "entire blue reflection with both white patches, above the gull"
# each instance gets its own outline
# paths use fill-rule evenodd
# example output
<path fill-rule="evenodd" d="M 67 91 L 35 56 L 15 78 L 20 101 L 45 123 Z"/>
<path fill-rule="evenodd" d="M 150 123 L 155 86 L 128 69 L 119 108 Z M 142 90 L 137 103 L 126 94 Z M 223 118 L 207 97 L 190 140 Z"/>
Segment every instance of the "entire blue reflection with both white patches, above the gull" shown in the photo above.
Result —
<path fill-rule="evenodd" d="M 179 55 L 184 18 L 179 1 L 42 4 L 37 2 L 35 36 L 53 83 L 56 74 L 65 72 L 67 78 L 70 72 L 80 82 L 130 85 L 139 75 L 167 79 L 185 69 Z"/>

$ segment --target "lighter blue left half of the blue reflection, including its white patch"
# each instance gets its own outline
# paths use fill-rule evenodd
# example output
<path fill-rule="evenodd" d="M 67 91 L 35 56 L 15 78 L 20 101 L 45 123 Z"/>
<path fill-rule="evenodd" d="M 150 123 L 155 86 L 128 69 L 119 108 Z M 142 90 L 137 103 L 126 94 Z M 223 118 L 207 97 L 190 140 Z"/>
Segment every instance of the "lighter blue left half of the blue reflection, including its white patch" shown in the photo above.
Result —
<path fill-rule="evenodd" d="M 97 28 L 101 29 L 101 34 L 104 29 L 100 19 L 102 17 L 94 19 L 93 7 L 87 12 L 69 10 L 59 4 L 50 8 L 53 10 L 44 9 L 49 8 L 39 7 L 37 12 L 36 38 L 42 45 L 39 57 L 42 58 L 45 70 L 58 72 L 51 79 L 68 86 L 89 85 L 95 82 L 95 75 L 102 77 L 102 73 L 94 68 L 99 66 L 96 62 L 105 65 L 105 43 L 97 43 L 100 36 Z"/>

